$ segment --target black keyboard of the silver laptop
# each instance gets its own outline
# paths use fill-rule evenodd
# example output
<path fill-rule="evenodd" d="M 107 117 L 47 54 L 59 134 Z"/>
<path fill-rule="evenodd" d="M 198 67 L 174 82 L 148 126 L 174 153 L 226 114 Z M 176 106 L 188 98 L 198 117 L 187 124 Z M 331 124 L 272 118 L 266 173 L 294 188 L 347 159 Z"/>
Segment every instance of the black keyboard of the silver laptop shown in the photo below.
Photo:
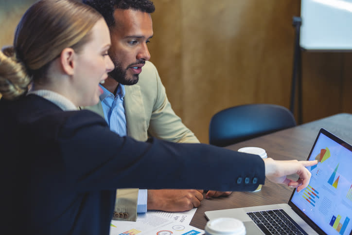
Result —
<path fill-rule="evenodd" d="M 265 235 L 307 235 L 307 233 L 305 233 L 302 228 L 282 209 L 247 212 L 247 215 Z"/>

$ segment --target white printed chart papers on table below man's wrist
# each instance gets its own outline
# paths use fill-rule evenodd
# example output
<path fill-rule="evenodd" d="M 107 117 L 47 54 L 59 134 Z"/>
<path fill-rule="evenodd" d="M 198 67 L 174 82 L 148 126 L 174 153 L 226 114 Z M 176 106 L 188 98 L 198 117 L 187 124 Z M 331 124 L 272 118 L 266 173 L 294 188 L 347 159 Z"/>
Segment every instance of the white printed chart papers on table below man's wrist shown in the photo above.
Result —
<path fill-rule="evenodd" d="M 137 221 L 111 220 L 110 235 L 202 235 L 190 224 L 197 208 L 186 212 L 148 211 Z"/>

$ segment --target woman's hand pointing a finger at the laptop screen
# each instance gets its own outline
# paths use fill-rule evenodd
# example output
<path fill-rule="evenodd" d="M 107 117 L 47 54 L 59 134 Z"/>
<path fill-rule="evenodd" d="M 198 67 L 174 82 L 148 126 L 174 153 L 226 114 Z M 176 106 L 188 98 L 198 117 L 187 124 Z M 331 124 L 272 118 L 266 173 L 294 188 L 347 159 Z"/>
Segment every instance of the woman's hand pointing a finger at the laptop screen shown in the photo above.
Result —
<path fill-rule="evenodd" d="M 305 166 L 316 165 L 315 161 L 275 161 L 272 158 L 264 159 L 265 176 L 275 183 L 286 184 L 290 187 L 297 188 L 297 192 L 307 187 L 311 179 L 310 171 Z M 299 175 L 299 180 L 293 181 L 286 178 L 287 175 Z"/>

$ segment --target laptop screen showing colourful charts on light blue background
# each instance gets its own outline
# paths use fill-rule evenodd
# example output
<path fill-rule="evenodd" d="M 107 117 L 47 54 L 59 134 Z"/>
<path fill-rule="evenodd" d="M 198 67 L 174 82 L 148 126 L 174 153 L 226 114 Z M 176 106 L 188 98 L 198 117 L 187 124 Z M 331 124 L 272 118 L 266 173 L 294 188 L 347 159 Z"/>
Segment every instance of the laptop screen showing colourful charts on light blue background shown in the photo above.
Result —
<path fill-rule="evenodd" d="M 318 164 L 308 167 L 312 173 L 308 187 L 299 193 L 295 190 L 288 204 L 318 233 L 349 235 L 352 231 L 352 147 L 321 129 L 308 157 L 308 160 L 315 159 Z"/>

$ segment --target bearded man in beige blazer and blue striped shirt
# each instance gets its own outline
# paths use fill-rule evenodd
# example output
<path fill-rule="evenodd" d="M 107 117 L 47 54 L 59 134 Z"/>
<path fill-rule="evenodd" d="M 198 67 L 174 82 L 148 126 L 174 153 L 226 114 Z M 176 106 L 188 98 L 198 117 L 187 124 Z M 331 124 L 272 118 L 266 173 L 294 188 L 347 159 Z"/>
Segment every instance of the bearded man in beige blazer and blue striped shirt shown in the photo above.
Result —
<path fill-rule="evenodd" d="M 101 103 L 88 107 L 101 114 L 121 136 L 146 141 L 148 135 L 177 143 L 199 143 L 167 99 L 158 71 L 149 62 L 147 43 L 153 36 L 150 0 L 83 0 L 100 12 L 110 30 L 115 69 L 103 84 Z M 203 190 L 119 189 L 114 219 L 136 220 L 146 210 L 179 212 L 200 205 Z M 208 197 L 230 192 L 209 191 Z M 137 203 L 138 202 L 138 203 Z"/>

